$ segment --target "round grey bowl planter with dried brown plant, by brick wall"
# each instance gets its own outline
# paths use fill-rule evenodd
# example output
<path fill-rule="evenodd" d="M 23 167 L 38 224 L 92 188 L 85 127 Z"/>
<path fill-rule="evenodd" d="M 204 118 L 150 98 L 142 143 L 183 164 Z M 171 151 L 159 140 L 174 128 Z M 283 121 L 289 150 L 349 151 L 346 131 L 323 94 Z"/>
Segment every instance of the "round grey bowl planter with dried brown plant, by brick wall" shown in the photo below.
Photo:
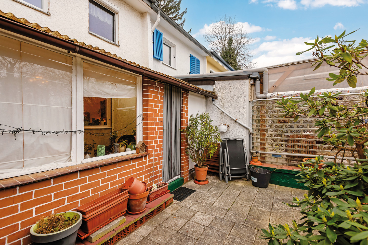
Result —
<path fill-rule="evenodd" d="M 82 214 L 65 212 L 42 217 L 31 229 L 31 240 L 42 244 L 74 245 L 82 224 Z"/>

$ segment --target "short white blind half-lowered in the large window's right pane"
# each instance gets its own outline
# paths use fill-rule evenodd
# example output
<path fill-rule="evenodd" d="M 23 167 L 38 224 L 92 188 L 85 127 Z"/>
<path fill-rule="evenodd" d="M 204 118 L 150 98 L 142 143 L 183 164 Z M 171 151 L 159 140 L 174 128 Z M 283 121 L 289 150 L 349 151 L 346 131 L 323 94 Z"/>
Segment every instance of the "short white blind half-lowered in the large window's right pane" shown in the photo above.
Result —
<path fill-rule="evenodd" d="M 136 97 L 137 78 L 122 72 L 83 63 L 83 96 L 99 98 Z"/>

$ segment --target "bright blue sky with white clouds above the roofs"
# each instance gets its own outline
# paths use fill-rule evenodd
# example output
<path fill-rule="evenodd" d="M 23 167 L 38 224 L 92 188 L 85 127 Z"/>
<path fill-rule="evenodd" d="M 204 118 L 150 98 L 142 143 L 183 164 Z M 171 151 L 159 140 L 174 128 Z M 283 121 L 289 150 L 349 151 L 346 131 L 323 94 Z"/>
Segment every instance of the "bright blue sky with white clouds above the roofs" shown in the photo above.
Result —
<path fill-rule="evenodd" d="M 220 15 L 235 16 L 256 42 L 251 46 L 256 67 L 303 60 L 310 53 L 305 41 L 317 35 L 339 35 L 359 29 L 351 40 L 368 39 L 365 21 L 368 0 L 182 0 L 187 21 L 184 29 L 207 46 L 203 33 Z"/>

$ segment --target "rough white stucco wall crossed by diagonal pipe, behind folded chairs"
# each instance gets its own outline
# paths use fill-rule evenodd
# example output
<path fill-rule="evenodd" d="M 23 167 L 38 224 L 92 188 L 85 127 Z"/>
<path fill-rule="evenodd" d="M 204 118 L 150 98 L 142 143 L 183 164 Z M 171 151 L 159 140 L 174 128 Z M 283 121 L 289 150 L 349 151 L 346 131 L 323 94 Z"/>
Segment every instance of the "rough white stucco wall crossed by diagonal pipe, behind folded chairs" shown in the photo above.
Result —
<path fill-rule="evenodd" d="M 238 118 L 242 123 L 250 126 L 249 118 L 249 80 L 225 80 L 216 81 L 215 93 L 217 94 L 216 104 L 234 118 Z M 222 124 L 223 112 L 212 104 L 212 98 L 206 98 L 206 112 L 213 119 L 214 125 Z M 249 152 L 249 133 L 245 127 L 234 122 L 228 116 L 224 116 L 224 124 L 229 124 L 227 132 L 221 132 L 221 138 L 244 138 L 247 154 Z"/>

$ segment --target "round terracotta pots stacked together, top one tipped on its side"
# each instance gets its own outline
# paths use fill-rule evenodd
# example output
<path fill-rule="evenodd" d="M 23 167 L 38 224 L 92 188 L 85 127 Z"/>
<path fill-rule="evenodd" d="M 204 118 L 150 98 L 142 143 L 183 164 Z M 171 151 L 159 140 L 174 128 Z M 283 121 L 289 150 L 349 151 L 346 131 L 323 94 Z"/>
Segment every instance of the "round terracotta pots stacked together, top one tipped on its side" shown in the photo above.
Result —
<path fill-rule="evenodd" d="M 145 182 L 141 182 L 134 177 L 129 178 L 124 183 L 124 189 L 128 189 L 128 213 L 138 214 L 146 210 L 147 196 L 149 190 Z"/>

